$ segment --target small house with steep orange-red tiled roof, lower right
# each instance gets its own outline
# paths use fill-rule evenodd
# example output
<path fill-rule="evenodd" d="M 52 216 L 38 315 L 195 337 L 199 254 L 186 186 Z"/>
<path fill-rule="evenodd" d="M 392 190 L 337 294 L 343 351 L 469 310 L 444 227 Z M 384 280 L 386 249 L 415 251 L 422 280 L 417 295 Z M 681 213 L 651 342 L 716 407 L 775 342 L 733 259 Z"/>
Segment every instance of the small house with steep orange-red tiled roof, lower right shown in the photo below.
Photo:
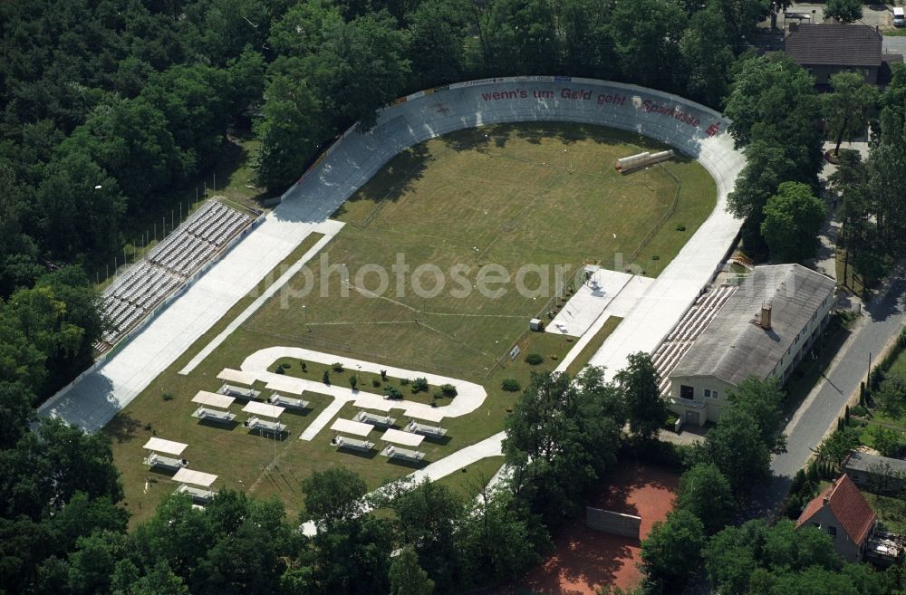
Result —
<path fill-rule="evenodd" d="M 862 561 L 877 521 L 859 488 L 843 474 L 805 506 L 795 526 L 821 529 L 831 536 L 834 551 L 845 560 Z"/>

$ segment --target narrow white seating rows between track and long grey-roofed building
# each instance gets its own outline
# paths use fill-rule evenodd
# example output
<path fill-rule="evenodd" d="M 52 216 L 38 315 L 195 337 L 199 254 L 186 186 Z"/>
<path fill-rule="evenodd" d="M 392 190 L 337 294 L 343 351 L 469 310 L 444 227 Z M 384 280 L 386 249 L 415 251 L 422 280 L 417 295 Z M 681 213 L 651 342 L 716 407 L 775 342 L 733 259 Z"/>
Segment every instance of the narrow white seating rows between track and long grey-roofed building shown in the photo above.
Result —
<path fill-rule="evenodd" d="M 736 290 L 736 287 L 721 286 L 700 296 L 658 349 L 654 350 L 651 359 L 660 374 L 661 394 L 666 395 L 670 391 L 670 372 L 676 369 L 679 360 L 691 349 L 692 343 L 708 328 L 720 307 Z"/>

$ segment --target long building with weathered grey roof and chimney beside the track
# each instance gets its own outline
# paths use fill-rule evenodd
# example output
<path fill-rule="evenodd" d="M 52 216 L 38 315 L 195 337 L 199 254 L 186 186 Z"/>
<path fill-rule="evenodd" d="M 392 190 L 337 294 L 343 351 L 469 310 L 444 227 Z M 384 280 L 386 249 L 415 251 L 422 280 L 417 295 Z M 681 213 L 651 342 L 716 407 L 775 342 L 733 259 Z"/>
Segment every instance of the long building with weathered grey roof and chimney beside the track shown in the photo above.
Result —
<path fill-rule="evenodd" d="M 670 409 L 701 426 L 744 379 L 786 382 L 824 329 L 835 286 L 801 264 L 755 267 L 670 372 Z"/>

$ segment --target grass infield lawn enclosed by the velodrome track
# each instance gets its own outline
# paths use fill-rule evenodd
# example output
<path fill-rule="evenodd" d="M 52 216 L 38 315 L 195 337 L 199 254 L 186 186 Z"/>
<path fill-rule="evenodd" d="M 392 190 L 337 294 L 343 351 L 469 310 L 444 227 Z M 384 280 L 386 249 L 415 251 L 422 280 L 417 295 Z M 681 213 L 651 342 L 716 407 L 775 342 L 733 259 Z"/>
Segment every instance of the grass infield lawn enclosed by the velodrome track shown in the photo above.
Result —
<path fill-rule="evenodd" d="M 469 270 L 464 277 L 472 284 L 478 268 L 488 263 L 512 272 L 523 264 L 578 268 L 586 260 L 612 266 L 615 254 L 634 252 L 640 254 L 637 264 L 655 264 L 644 267 L 654 274 L 670 263 L 715 201 L 713 180 L 698 163 L 685 158 L 665 166 L 672 175 L 656 167 L 620 176 L 612 168 L 617 157 L 660 148 L 616 130 L 559 124 L 465 130 L 429 140 L 391 160 L 342 206 L 335 216 L 348 225 L 323 254 L 330 264 L 349 267 L 349 283 L 369 290 L 376 284 L 373 277 L 355 278 L 361 265 L 381 264 L 390 270 L 398 254 L 404 254 L 410 271 L 419 264 L 438 264 L 443 271 L 465 264 Z M 643 244 L 670 208 L 677 180 L 676 213 Z M 678 222 L 686 227 L 684 232 L 676 231 Z M 296 250 L 284 264 L 303 253 L 302 248 Z M 303 509 L 299 482 L 313 471 L 347 466 L 370 488 L 410 473 L 412 467 L 380 456 L 337 453 L 327 430 L 311 442 L 299 440 L 304 427 L 327 405 L 325 395 L 306 392 L 313 409 L 305 415 L 284 414 L 290 434 L 282 442 L 250 435 L 241 425 L 231 429 L 199 425 L 189 415 L 195 408 L 190 399 L 199 389 L 217 389 L 217 373 L 239 368 L 255 350 L 304 347 L 482 384 L 488 393 L 484 404 L 466 417 L 445 419 L 448 439 L 426 440 L 421 447 L 426 462 L 432 462 L 500 431 L 518 397 L 504 391 L 502 381 L 515 379 L 525 388 L 533 372 L 554 369 L 575 345 L 562 335 L 528 331 L 529 319 L 545 313 L 549 293 L 523 296 L 505 284 L 506 294 L 497 298 L 474 291 L 467 297 L 449 291 L 434 298 L 411 291 L 374 297 L 354 290 L 342 297 L 341 275 L 333 274 L 322 285 L 320 266 L 313 264 L 311 293 L 286 300 L 278 292 L 191 374 L 178 375 L 178 369 L 253 299 L 246 298 L 107 428 L 114 438 L 133 522 L 147 518 L 174 488 L 166 476 L 149 473 L 141 464 L 141 445 L 152 433 L 188 443 L 184 456 L 191 468 L 220 475 L 218 486 L 256 496 L 277 495 L 293 516 Z M 290 284 L 299 288 L 304 279 L 300 274 Z M 537 279 L 536 274 L 529 275 L 526 285 L 534 288 Z M 424 284 L 430 287 L 431 282 Z M 600 345 L 617 322 L 608 321 L 593 342 Z M 521 353 L 510 360 L 507 354 L 514 345 Z M 571 369 L 580 369 L 593 351 L 583 350 Z M 529 365 L 528 353 L 542 355 L 543 362 Z M 298 361 L 289 363 L 285 373 L 303 374 Z M 323 369 L 313 362 L 306 362 L 306 367 L 305 374 L 320 380 Z M 332 373 L 333 383 L 346 385 L 349 373 Z M 371 377 L 362 379 L 361 389 L 370 390 Z M 406 388 L 400 387 L 410 398 Z M 173 398 L 164 400 L 164 393 Z M 432 398 L 431 391 L 419 398 Z M 445 404 L 446 399 L 439 399 L 439 405 Z M 340 416 L 354 413 L 350 405 Z M 372 433 L 372 440 L 377 437 L 380 434 Z M 474 470 L 456 473 L 448 481 L 468 489 L 473 477 L 499 463 L 493 459 L 472 465 Z"/>

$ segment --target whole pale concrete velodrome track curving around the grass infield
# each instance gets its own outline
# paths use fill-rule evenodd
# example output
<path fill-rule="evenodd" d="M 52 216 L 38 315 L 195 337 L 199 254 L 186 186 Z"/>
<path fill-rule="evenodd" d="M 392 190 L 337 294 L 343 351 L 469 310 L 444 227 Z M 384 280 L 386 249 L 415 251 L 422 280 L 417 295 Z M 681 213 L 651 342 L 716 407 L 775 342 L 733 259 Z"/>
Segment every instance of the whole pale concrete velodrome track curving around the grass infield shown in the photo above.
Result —
<path fill-rule="evenodd" d="M 674 95 L 570 77 L 510 77 L 419 91 L 381 110 L 374 129 L 347 131 L 265 221 L 161 310 L 110 357 L 49 399 L 45 416 L 95 431 L 167 369 L 304 237 L 323 230 L 346 198 L 400 150 L 453 130 L 516 121 L 572 121 L 638 132 L 696 158 L 718 186 L 718 204 L 592 359 L 614 371 L 626 356 L 652 350 L 721 264 L 740 221 L 726 213 L 745 158 L 733 149 L 728 121 Z M 611 164 L 602 164 L 611 167 Z"/>

